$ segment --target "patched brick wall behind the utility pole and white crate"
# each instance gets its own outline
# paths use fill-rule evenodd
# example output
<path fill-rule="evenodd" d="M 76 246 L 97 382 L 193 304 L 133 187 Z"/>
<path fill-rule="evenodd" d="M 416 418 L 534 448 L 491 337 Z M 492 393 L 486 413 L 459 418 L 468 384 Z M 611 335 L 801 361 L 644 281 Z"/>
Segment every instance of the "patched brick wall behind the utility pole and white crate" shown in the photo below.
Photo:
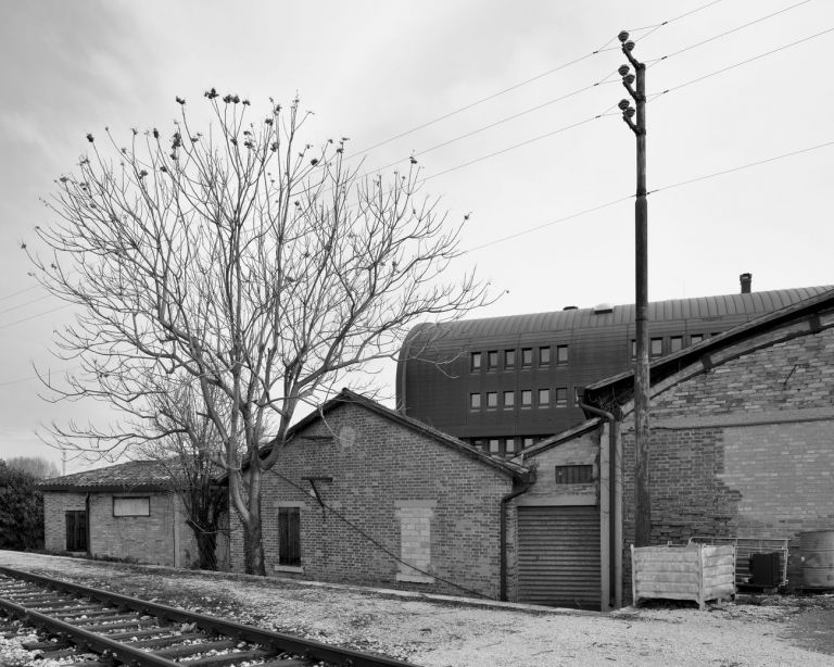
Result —
<path fill-rule="evenodd" d="M 653 543 L 834 529 L 834 329 L 758 350 L 652 400 Z M 624 545 L 633 541 L 633 421 L 623 428 Z"/>

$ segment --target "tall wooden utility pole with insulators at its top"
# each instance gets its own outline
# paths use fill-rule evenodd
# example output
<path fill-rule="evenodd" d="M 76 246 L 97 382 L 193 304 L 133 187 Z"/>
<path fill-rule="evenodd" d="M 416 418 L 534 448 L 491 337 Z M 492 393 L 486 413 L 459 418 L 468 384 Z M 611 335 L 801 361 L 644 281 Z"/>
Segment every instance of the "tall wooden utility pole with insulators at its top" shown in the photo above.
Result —
<path fill-rule="evenodd" d="M 646 202 L 646 65 L 632 55 L 634 42 L 623 30 L 618 36 L 622 52 L 634 67 L 622 65 L 622 85 L 634 100 L 620 100 L 622 119 L 637 139 L 637 196 L 634 202 L 634 319 L 636 351 L 634 368 L 634 545 L 647 546 L 652 539 L 652 507 L 648 494 L 648 203 Z M 636 75 L 636 77 L 635 77 Z M 632 87 L 636 78 L 636 88 Z M 636 113 L 636 123 L 632 121 Z"/>

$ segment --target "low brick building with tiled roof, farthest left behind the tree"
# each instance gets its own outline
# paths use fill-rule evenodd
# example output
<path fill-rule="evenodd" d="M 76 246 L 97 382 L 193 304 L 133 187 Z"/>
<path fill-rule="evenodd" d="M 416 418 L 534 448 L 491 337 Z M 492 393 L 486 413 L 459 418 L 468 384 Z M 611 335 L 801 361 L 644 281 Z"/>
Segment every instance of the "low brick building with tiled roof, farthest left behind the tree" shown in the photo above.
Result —
<path fill-rule="evenodd" d="M 49 551 L 188 567 L 193 532 L 170 478 L 153 461 L 76 473 L 38 484 Z M 219 551 L 223 552 L 223 544 Z"/>

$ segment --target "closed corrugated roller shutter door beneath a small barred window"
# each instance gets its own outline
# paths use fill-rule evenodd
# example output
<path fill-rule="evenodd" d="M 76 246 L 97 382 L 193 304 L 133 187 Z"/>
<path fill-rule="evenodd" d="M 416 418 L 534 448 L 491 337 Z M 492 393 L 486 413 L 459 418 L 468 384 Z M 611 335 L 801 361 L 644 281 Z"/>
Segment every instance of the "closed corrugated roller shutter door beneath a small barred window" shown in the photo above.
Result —
<path fill-rule="evenodd" d="M 599 609 L 599 508 L 518 507 L 518 601 Z"/>

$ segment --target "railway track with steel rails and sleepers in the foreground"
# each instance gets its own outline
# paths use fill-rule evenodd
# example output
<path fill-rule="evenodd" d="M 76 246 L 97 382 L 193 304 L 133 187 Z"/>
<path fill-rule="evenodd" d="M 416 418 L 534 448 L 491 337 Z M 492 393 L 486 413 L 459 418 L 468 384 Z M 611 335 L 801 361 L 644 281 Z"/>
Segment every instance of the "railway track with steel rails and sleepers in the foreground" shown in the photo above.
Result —
<path fill-rule="evenodd" d="M 48 638 L 24 647 L 66 667 L 415 667 L 8 567 L 0 567 L 0 612 Z M 7 628 L 0 633 L 20 632 Z M 99 663 L 83 657 L 89 653 Z"/>

